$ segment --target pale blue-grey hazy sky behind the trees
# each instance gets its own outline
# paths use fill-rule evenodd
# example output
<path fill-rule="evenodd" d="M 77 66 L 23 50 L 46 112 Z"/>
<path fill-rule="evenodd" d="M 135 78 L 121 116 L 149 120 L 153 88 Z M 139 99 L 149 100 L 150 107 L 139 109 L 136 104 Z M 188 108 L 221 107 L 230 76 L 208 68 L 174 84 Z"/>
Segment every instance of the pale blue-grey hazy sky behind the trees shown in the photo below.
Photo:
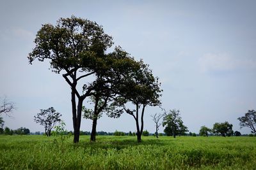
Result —
<path fill-rule="evenodd" d="M 236 0 L 0 1 L 0 97 L 16 106 L 12 117 L 2 115 L 5 126 L 43 132 L 33 117 L 52 106 L 72 131 L 70 87 L 49 62 L 30 65 L 27 56 L 42 24 L 75 15 L 102 25 L 114 46 L 149 64 L 162 83 L 163 108 L 180 110 L 189 131 L 228 121 L 234 131 L 250 133 L 237 118 L 256 110 L 255 8 L 256 1 Z M 154 113 L 162 111 L 145 110 L 144 129 L 152 133 Z M 92 120 L 83 119 L 81 131 L 91 129 Z M 98 121 L 97 131 L 115 130 L 136 131 L 134 119 Z"/>

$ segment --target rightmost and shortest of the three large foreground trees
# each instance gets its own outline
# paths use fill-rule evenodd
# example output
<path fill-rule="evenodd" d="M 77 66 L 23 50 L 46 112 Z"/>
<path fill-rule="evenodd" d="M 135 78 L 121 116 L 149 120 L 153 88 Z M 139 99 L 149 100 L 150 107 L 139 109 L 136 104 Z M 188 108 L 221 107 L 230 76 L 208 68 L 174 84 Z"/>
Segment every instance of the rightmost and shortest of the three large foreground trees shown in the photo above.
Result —
<path fill-rule="evenodd" d="M 115 98 L 111 106 L 119 109 L 112 112 L 120 115 L 125 111 L 134 118 L 138 143 L 141 142 L 146 106 L 159 106 L 161 104 L 159 101 L 160 93 L 162 92 L 160 85 L 158 78 L 155 78 L 152 70 L 148 68 L 148 64 L 144 64 L 140 60 L 134 63 L 134 67 L 131 67 L 130 72 L 124 74 L 118 87 L 116 87 L 118 89 L 118 97 Z M 131 104 L 135 105 L 135 109 L 127 108 L 127 105 L 131 106 Z"/>

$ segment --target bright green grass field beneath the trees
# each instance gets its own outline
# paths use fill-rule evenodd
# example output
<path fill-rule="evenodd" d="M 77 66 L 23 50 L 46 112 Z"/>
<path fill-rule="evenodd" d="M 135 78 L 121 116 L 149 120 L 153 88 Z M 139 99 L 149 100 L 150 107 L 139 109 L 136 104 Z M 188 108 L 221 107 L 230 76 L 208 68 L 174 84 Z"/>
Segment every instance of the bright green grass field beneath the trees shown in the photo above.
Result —
<path fill-rule="evenodd" d="M 256 169 L 253 137 L 0 136 L 0 169 Z"/>

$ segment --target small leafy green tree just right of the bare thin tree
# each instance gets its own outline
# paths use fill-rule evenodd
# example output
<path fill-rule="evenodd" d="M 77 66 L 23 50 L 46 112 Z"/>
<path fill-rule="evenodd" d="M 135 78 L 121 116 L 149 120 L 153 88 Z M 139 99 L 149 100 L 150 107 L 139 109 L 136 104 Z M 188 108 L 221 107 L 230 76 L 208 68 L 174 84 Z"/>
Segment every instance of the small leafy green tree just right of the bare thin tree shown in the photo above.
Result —
<path fill-rule="evenodd" d="M 179 110 L 170 110 L 169 113 L 164 112 L 163 127 L 165 126 L 164 132 L 167 136 L 176 138 L 178 134 L 184 135 L 185 132 L 188 132 L 188 127 L 183 124 Z"/>

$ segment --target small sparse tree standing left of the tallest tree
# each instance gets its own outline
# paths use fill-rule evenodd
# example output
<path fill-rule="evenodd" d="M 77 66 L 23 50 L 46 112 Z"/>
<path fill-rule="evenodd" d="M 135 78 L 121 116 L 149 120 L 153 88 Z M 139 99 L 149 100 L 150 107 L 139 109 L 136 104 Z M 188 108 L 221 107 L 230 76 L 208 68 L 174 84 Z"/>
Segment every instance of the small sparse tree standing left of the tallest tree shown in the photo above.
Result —
<path fill-rule="evenodd" d="M 61 121 L 60 117 L 61 114 L 51 107 L 47 110 L 40 110 L 40 113 L 37 113 L 34 116 L 34 120 L 37 124 L 44 126 L 45 134 L 47 136 L 51 136 L 52 128 Z"/>

